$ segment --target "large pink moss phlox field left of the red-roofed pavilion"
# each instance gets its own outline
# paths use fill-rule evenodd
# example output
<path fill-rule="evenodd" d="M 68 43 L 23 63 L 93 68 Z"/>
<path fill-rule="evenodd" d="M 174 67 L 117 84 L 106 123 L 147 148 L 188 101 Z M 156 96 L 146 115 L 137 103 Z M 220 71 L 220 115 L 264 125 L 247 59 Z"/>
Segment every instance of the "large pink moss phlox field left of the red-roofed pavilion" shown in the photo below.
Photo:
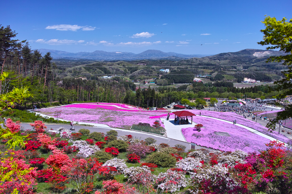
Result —
<path fill-rule="evenodd" d="M 107 103 L 110 104 L 110 103 Z M 113 104 L 120 105 L 120 104 Z M 106 109 L 95 107 L 95 106 L 104 106 Z M 111 109 L 112 108 L 112 109 Z M 134 107 L 135 108 L 135 107 Z M 87 123 L 98 123 L 98 124 L 106 124 L 113 128 L 130 128 L 133 124 L 149 123 L 152 125 L 155 120 L 159 117 L 165 117 L 167 114 L 163 114 L 166 116 L 161 116 L 161 113 L 165 113 L 167 111 L 147 111 L 147 110 L 129 110 L 129 109 L 119 109 L 114 106 L 106 106 L 106 105 L 97 105 L 97 104 L 74 104 L 67 105 L 62 107 L 55 107 L 50 109 L 39 109 L 38 112 L 54 116 L 54 112 L 56 110 L 62 110 L 60 119 L 70 120 L 70 121 L 79 121 L 79 122 L 87 122 Z M 149 117 L 155 117 L 149 119 Z M 164 125 L 161 123 L 161 127 Z"/>

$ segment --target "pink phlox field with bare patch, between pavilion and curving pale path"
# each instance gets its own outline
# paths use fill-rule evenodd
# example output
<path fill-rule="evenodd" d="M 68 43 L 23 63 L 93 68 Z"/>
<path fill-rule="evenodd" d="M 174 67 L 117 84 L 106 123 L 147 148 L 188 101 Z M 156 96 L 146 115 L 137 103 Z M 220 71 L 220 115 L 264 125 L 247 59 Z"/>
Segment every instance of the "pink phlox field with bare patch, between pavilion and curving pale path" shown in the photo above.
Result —
<path fill-rule="evenodd" d="M 218 121 L 207 117 L 196 117 L 196 123 L 203 124 L 201 131 L 194 127 L 183 128 L 182 133 L 187 142 L 200 146 L 210 147 L 221 151 L 235 151 L 240 149 L 253 152 L 265 149 L 265 144 L 270 142 L 265 137 L 225 121 Z M 230 136 L 215 135 L 214 132 L 227 132 Z M 192 136 L 195 134 L 194 136 Z"/>

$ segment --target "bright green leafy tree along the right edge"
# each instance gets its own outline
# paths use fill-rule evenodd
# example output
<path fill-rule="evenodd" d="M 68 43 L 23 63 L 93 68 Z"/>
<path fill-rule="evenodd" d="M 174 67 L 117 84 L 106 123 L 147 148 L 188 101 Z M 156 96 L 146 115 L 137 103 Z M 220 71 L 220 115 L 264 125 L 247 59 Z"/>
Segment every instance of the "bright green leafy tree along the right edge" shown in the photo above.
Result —
<path fill-rule="evenodd" d="M 282 63 L 288 67 L 287 70 L 282 71 L 283 79 L 274 82 L 277 85 L 276 90 L 282 90 L 283 93 L 280 98 L 285 98 L 286 96 L 292 95 L 292 19 L 286 22 L 284 17 L 282 20 L 277 21 L 275 17 L 267 16 L 262 22 L 265 24 L 265 29 L 260 30 L 264 36 L 263 41 L 258 42 L 258 44 L 264 46 L 268 45 L 267 50 L 279 49 L 285 54 L 280 56 L 271 56 L 267 59 L 266 63 Z M 270 88 L 270 91 L 275 90 Z M 274 130 L 276 123 L 280 120 L 285 120 L 291 116 L 292 105 L 287 105 L 285 110 L 277 112 L 277 117 L 274 120 L 270 120 L 267 124 L 267 128 L 270 132 Z"/>

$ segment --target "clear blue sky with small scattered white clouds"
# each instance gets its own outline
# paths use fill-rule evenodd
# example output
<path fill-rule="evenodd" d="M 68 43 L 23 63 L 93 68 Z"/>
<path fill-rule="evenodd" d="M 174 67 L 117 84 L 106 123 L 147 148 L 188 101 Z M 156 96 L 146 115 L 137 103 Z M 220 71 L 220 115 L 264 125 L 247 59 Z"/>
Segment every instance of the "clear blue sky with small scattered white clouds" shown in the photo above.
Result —
<path fill-rule="evenodd" d="M 265 15 L 291 18 L 291 0 L 4 1 L 1 24 L 32 49 L 218 54 L 265 49 Z M 11 7 L 11 8 L 9 8 Z M 69 43 L 69 44 L 68 44 Z"/>

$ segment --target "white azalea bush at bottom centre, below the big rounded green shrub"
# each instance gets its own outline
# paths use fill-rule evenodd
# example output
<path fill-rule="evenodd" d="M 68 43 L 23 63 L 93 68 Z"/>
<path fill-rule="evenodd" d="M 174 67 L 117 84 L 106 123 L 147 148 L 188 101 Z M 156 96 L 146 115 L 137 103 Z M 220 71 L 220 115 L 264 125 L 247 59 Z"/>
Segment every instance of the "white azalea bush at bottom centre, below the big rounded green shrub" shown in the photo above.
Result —
<path fill-rule="evenodd" d="M 182 172 L 168 169 L 165 173 L 159 173 L 156 177 L 157 187 L 162 191 L 175 192 L 181 187 L 187 186 L 188 179 Z"/>

